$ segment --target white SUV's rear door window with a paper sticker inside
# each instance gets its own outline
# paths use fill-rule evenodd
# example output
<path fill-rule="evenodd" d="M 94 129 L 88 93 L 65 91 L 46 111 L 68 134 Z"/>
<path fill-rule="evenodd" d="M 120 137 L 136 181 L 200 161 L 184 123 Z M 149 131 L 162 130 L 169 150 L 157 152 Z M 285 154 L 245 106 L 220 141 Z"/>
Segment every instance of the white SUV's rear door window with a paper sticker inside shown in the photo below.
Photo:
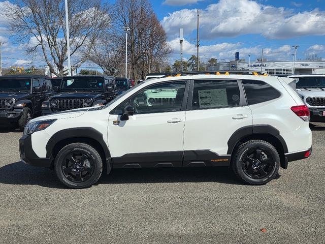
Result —
<path fill-rule="evenodd" d="M 194 81 L 192 110 L 239 106 L 240 90 L 236 80 Z"/>

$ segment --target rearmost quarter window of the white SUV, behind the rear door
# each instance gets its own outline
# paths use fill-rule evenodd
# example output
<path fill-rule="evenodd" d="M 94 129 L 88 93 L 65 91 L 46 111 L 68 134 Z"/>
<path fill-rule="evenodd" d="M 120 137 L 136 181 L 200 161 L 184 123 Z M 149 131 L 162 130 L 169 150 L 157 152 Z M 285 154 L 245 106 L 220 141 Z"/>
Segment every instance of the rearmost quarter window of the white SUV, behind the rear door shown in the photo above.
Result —
<path fill-rule="evenodd" d="M 281 94 L 268 83 L 261 80 L 242 80 L 248 105 L 263 103 L 276 98 Z"/>

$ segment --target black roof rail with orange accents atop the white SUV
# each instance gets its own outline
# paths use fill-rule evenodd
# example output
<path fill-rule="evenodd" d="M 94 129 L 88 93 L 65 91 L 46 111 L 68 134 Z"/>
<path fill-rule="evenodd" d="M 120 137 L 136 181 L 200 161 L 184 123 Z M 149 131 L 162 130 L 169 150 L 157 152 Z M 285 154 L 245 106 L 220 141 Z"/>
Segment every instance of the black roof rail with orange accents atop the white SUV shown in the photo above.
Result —
<path fill-rule="evenodd" d="M 178 72 L 165 75 L 161 78 L 173 77 L 173 76 L 186 76 L 186 75 L 263 75 L 269 76 L 262 71 L 250 71 L 250 70 L 220 70 L 220 71 L 192 71 L 192 72 Z"/>

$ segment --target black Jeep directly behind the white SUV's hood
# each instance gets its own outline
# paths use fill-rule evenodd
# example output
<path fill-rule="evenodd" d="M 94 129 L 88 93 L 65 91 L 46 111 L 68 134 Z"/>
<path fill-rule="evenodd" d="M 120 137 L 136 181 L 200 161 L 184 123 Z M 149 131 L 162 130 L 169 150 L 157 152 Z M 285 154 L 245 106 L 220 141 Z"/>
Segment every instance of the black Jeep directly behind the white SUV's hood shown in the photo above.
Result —
<path fill-rule="evenodd" d="M 66 76 L 58 92 L 43 102 L 42 115 L 105 105 L 117 96 L 117 87 L 112 76 Z"/>

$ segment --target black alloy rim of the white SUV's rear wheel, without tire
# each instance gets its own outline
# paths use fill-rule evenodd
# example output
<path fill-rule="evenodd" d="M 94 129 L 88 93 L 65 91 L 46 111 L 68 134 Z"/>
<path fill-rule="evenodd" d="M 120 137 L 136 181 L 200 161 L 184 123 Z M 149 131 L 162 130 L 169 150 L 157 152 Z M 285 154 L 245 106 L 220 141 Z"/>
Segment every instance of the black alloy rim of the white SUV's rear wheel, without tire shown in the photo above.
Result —
<path fill-rule="evenodd" d="M 252 148 L 242 159 L 243 171 L 253 179 L 265 178 L 274 169 L 274 160 L 269 151 L 259 147 Z"/>

